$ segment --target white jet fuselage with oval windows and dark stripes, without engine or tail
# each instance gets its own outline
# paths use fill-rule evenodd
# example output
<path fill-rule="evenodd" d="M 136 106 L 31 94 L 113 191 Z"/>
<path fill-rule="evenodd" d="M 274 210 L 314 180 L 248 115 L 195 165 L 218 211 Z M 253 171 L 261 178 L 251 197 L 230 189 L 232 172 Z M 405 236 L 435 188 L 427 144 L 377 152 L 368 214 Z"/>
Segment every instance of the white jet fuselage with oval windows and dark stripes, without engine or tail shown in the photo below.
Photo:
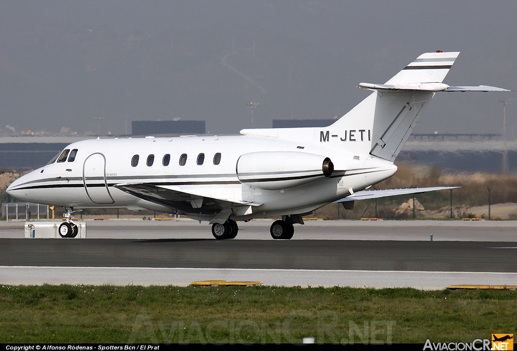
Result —
<path fill-rule="evenodd" d="M 192 208 L 175 208 L 114 186 L 145 183 L 205 198 L 254 204 L 252 213 L 232 215 L 250 219 L 308 213 L 349 195 L 350 189 L 356 192 L 387 179 L 397 170 L 391 162 L 376 157 L 357 156 L 310 142 L 256 136 L 93 139 L 74 142 L 66 150 L 77 150 L 73 161 L 65 157 L 24 175 L 11 184 L 9 194 L 24 201 L 75 209 L 149 209 L 195 219 L 210 217 L 206 200 L 199 208 L 195 204 Z M 291 155 L 300 155 L 301 160 L 306 154 L 321 155 L 331 159 L 334 171 L 328 178 L 320 177 L 300 186 L 252 187 L 239 180 L 237 163 L 242 155 L 257 151 L 296 152 Z M 135 155 L 138 164 L 134 163 Z"/>

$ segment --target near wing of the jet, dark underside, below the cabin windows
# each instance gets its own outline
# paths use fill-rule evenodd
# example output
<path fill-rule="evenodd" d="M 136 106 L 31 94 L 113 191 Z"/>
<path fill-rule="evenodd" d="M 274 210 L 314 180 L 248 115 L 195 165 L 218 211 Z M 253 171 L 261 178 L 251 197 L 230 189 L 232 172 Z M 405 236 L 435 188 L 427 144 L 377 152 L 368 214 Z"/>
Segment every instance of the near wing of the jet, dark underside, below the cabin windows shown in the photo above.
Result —
<path fill-rule="evenodd" d="M 251 206 L 261 203 L 216 199 L 159 185 L 146 183 L 115 184 L 114 187 L 141 199 L 168 206 L 185 213 L 215 214 L 226 209 L 235 209 L 236 214 L 251 213 Z M 249 212 L 249 213 L 248 213 Z"/>

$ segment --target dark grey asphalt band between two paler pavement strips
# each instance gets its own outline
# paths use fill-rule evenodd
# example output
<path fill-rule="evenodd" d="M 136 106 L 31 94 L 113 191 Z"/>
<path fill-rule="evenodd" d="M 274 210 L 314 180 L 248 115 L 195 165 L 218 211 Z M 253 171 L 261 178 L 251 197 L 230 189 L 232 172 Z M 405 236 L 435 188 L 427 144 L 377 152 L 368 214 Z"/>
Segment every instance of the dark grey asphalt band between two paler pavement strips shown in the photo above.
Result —
<path fill-rule="evenodd" d="M 1 266 L 517 272 L 517 242 L 0 239 Z"/>

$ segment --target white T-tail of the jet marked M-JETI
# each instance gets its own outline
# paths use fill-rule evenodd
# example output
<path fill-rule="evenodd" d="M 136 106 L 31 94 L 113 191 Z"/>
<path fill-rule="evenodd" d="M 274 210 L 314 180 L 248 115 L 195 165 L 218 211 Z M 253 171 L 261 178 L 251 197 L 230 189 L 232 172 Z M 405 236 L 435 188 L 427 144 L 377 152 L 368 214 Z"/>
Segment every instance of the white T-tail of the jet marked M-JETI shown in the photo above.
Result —
<path fill-rule="evenodd" d="M 245 129 L 244 135 L 274 136 L 320 143 L 354 155 L 373 155 L 393 162 L 438 91 L 510 91 L 490 86 L 442 83 L 459 52 L 425 53 L 385 84 L 360 83 L 373 92 L 328 127 Z"/>

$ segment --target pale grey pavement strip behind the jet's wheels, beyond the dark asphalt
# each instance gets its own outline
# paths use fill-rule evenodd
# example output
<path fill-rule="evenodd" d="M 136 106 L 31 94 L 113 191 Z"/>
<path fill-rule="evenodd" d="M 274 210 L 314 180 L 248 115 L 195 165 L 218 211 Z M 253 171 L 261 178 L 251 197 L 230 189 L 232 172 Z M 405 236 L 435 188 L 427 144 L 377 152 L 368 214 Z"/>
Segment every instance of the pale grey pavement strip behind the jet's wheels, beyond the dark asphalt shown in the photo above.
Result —
<path fill-rule="evenodd" d="M 58 222 L 58 221 L 57 221 Z M 239 222 L 235 240 L 269 240 L 272 220 Z M 203 222 L 158 220 L 88 220 L 88 238 L 210 239 L 210 226 Z M 0 238 L 23 237 L 24 222 L 0 221 Z M 486 241 L 517 242 L 517 221 L 461 220 L 308 220 L 295 225 L 296 240 L 373 241 Z"/>

